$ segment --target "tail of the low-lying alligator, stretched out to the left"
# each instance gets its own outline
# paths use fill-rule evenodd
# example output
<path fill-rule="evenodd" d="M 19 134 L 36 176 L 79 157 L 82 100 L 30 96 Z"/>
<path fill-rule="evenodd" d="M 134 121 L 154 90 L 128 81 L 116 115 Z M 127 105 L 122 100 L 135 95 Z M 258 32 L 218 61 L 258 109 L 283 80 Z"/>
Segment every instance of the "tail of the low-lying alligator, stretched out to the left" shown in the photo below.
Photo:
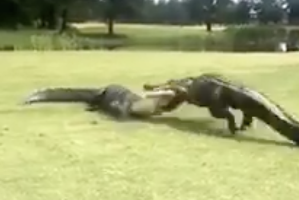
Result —
<path fill-rule="evenodd" d="M 33 92 L 24 104 L 41 102 L 81 102 L 92 103 L 104 92 L 104 88 L 46 88 Z"/>

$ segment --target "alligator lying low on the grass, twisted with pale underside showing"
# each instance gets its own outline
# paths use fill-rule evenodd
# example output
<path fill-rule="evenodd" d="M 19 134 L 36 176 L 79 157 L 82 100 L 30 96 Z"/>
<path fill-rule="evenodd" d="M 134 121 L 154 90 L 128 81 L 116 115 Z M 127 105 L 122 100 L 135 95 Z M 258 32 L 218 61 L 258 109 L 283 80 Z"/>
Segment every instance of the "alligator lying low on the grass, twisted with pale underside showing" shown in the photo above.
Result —
<path fill-rule="evenodd" d="M 183 102 L 174 91 L 147 93 L 145 97 L 130 89 L 110 84 L 102 88 L 46 88 L 33 92 L 24 104 L 40 102 L 81 102 L 88 111 L 101 111 L 116 118 L 150 117 L 172 110 Z"/>

